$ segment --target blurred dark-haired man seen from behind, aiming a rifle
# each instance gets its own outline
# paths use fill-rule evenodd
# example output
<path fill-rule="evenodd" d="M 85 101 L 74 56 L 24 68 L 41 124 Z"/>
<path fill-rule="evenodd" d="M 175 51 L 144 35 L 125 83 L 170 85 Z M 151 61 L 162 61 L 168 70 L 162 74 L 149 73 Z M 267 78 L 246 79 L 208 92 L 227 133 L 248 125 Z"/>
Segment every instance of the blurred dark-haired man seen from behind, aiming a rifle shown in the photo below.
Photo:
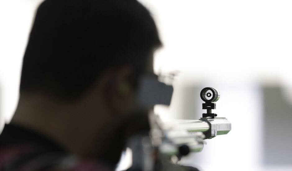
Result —
<path fill-rule="evenodd" d="M 149 129 L 136 94 L 159 46 L 135 0 L 44 1 L 0 136 L 0 170 L 114 170 L 127 137 Z"/>

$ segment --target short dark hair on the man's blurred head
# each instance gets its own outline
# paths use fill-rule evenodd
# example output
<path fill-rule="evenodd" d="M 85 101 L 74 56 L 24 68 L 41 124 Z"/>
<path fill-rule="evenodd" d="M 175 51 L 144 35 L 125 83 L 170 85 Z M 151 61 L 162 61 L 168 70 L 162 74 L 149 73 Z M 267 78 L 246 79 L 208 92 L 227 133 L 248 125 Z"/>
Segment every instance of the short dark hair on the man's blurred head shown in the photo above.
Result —
<path fill-rule="evenodd" d="M 153 18 L 136 0 L 46 0 L 30 32 L 20 91 L 76 99 L 106 69 L 143 72 L 160 45 Z"/>

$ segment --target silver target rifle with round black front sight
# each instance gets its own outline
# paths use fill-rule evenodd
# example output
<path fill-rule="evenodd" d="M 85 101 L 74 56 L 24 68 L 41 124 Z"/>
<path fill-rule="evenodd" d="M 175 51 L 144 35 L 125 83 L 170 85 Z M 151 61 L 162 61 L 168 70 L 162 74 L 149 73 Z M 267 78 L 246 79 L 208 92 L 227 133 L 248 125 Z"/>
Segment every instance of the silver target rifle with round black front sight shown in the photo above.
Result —
<path fill-rule="evenodd" d="M 190 153 L 203 150 L 205 139 L 230 132 L 231 123 L 226 118 L 218 118 L 212 109 L 220 98 L 218 90 L 204 88 L 200 93 L 205 102 L 202 118 L 198 120 L 161 119 L 153 111 L 149 114 L 150 133 L 130 139 L 132 167 L 129 170 L 141 171 L 193 171 L 193 167 L 181 166 L 180 159 Z"/>

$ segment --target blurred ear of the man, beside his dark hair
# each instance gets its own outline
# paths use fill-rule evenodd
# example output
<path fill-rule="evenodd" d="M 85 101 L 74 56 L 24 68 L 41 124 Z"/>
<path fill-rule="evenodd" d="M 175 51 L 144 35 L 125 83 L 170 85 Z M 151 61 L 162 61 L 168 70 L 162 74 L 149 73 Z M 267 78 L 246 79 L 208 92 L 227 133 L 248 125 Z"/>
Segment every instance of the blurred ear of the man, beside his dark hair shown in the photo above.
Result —
<path fill-rule="evenodd" d="M 132 108 L 135 91 L 130 84 L 133 74 L 129 66 L 116 69 L 113 72 L 113 85 L 109 94 L 109 105 L 114 112 L 126 112 Z"/>

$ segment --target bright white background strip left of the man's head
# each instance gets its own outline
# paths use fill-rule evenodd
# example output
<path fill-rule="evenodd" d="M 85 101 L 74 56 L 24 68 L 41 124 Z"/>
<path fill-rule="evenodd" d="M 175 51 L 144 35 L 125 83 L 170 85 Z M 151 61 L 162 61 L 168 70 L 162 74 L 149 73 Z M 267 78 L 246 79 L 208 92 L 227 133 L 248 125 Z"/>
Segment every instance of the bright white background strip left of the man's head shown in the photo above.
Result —
<path fill-rule="evenodd" d="M 34 11 L 41 0 L 0 1 L 0 126 L 16 107 L 22 57 Z M 1 130 L 1 128 L 0 128 Z"/>

